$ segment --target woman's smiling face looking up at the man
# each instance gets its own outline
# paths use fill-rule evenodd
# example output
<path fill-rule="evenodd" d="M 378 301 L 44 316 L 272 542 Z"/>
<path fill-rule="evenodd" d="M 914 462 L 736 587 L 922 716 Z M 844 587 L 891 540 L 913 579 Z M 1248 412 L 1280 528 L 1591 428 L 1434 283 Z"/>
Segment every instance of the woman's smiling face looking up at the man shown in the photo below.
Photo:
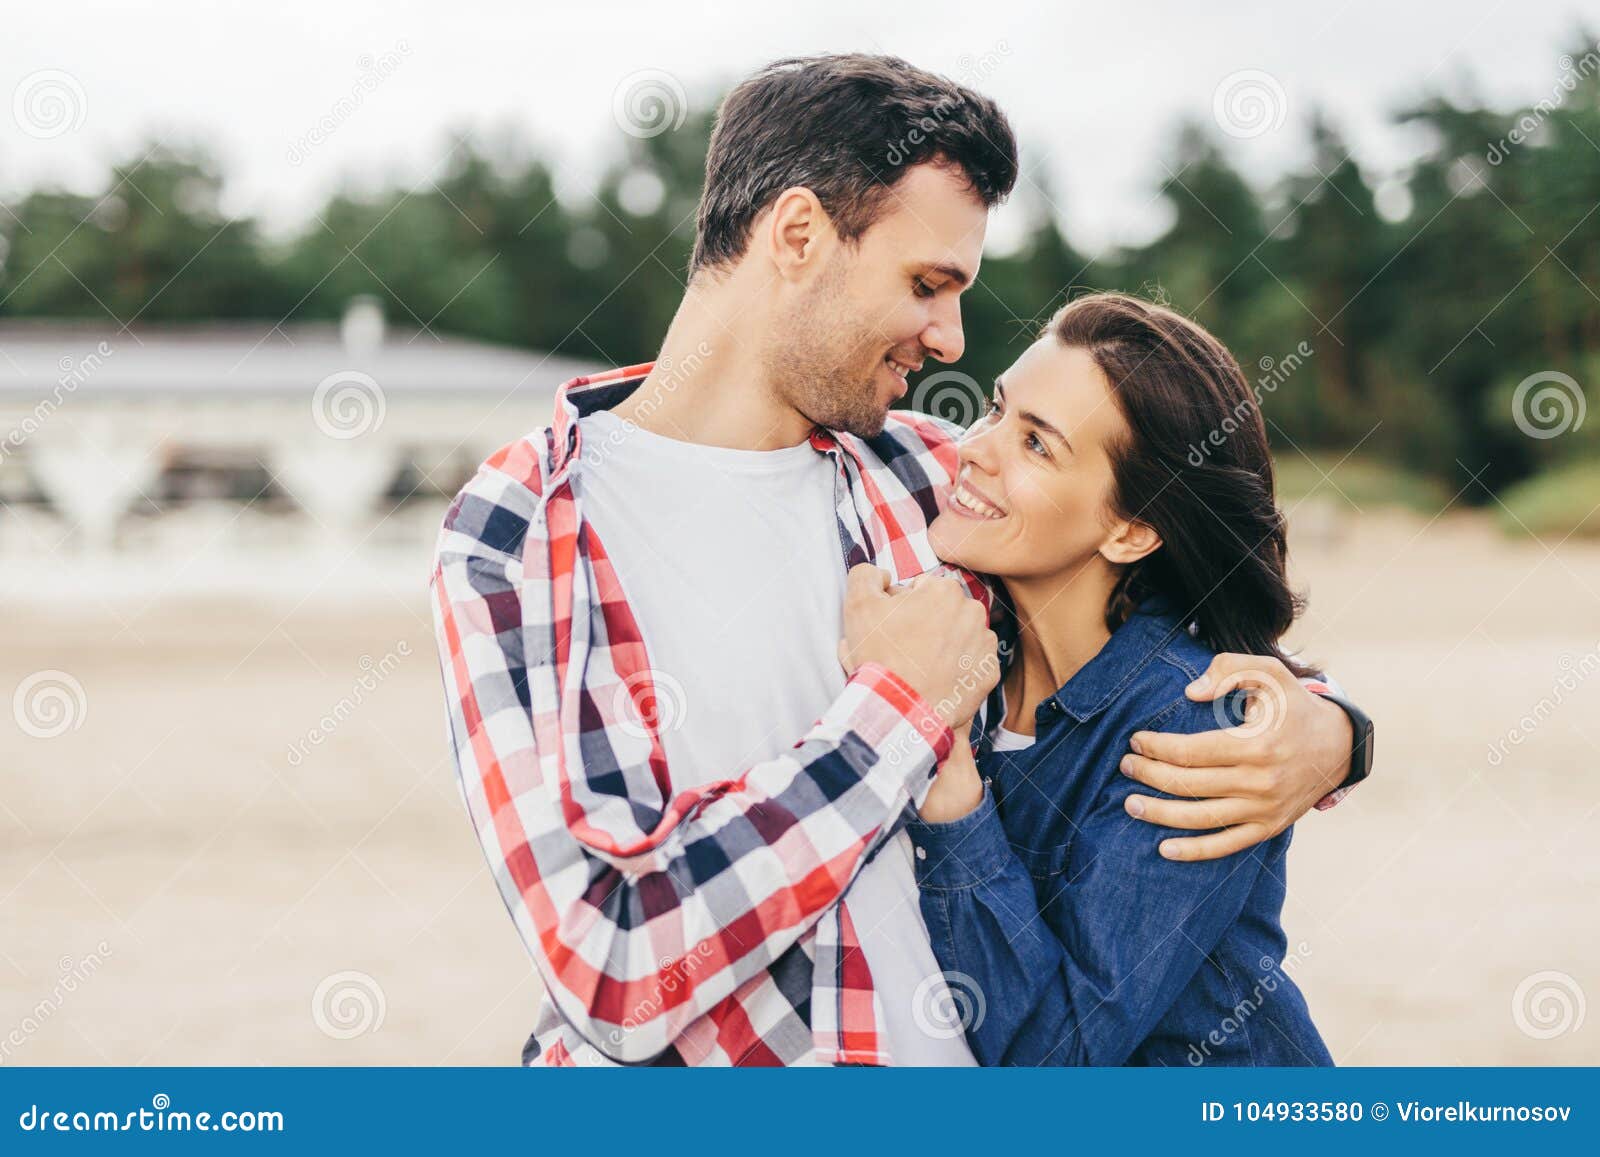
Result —
<path fill-rule="evenodd" d="M 1114 539 L 1125 523 L 1107 499 L 1109 446 L 1125 437 L 1094 358 L 1046 334 L 1000 376 L 989 413 L 962 440 L 955 490 L 928 528 L 933 549 L 1014 579 L 1075 573 L 1102 547 L 1123 562 Z"/>

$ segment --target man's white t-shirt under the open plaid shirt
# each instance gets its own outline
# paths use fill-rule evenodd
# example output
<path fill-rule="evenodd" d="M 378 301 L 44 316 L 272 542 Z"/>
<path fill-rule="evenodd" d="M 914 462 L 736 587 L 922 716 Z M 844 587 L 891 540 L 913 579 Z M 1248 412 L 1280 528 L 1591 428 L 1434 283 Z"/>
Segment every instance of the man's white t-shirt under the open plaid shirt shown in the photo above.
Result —
<path fill-rule="evenodd" d="M 782 754 L 845 688 L 845 563 L 832 461 L 808 443 L 726 450 L 579 419 L 579 501 L 616 566 L 656 672 L 675 789 Z M 899 832 L 850 888 L 896 1064 L 974 1064 L 942 1032 L 949 995 Z M 920 1005 L 914 1008 L 914 1002 Z M 934 1011 L 930 1011 L 934 1010 Z M 926 1024 L 930 1031 L 925 1031 Z"/>

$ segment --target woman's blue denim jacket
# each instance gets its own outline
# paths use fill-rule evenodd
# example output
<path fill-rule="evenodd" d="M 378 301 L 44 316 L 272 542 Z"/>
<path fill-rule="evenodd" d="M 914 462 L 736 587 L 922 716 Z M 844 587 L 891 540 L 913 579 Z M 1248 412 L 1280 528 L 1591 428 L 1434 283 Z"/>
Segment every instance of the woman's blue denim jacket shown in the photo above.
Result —
<path fill-rule="evenodd" d="M 1147 603 L 1037 711 L 1032 747 L 979 749 L 982 803 L 910 824 L 922 912 L 981 1064 L 1331 1064 L 1290 979 L 1290 832 L 1224 859 L 1163 859 L 1133 819 L 1134 731 L 1208 731 L 1213 653 Z"/>

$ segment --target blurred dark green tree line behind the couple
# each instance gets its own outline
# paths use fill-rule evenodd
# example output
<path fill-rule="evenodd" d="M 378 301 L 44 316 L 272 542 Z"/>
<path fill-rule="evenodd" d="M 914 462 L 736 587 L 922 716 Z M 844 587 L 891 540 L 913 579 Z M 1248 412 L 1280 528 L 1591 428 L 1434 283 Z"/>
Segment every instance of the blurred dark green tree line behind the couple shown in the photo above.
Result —
<path fill-rule="evenodd" d="M 1579 38 L 1530 109 L 1434 98 L 1400 110 L 1427 149 L 1381 189 L 1320 114 L 1310 166 L 1266 190 L 1208 123 L 1184 125 L 1158 189 L 1171 226 L 1094 259 L 1062 234 L 1050 190 L 1024 179 L 1026 238 L 986 256 L 963 298 L 958 368 L 987 382 L 1070 293 L 1120 288 L 1192 314 L 1235 350 L 1264 386 L 1280 456 L 1338 461 L 1358 445 L 1450 491 L 1482 469 L 1462 502 L 1592 462 L 1600 416 L 1528 437 L 1512 398 L 1541 371 L 1590 394 L 1600 381 L 1595 53 Z M 456 136 L 437 179 L 334 195 L 286 242 L 222 214 L 222 173 L 203 150 L 157 150 L 117 166 L 101 194 L 34 190 L 6 206 L 0 315 L 314 320 L 368 293 L 402 326 L 645 360 L 682 293 L 709 131 L 707 112 L 627 139 L 581 205 L 557 198 L 550 160 Z M 1301 342 L 1312 355 L 1285 371 Z"/>

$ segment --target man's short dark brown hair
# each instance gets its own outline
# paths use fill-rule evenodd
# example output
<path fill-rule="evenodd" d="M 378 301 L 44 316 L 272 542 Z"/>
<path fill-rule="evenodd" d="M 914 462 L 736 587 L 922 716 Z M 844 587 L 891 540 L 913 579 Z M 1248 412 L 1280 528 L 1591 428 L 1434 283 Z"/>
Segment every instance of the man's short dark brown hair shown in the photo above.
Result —
<path fill-rule="evenodd" d="M 990 208 L 1016 184 L 1016 138 L 987 96 L 894 56 L 774 61 L 717 110 L 690 275 L 744 256 L 757 214 L 792 186 L 854 242 L 928 160 L 962 170 Z"/>

